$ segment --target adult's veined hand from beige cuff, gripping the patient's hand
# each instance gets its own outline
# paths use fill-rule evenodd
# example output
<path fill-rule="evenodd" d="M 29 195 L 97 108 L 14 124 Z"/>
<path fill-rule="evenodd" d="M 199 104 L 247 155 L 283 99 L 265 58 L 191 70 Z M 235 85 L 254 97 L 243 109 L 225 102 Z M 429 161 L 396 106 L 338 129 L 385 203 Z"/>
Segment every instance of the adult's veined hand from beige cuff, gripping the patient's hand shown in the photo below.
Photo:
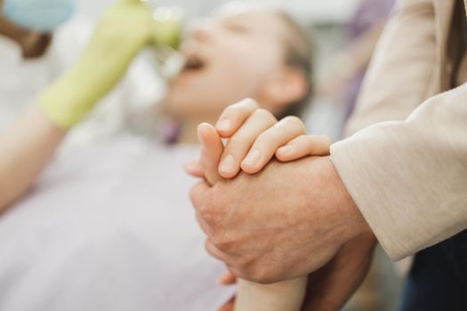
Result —
<path fill-rule="evenodd" d="M 309 274 L 371 233 L 329 157 L 271 162 L 191 191 L 207 250 L 234 275 L 275 283 Z"/>

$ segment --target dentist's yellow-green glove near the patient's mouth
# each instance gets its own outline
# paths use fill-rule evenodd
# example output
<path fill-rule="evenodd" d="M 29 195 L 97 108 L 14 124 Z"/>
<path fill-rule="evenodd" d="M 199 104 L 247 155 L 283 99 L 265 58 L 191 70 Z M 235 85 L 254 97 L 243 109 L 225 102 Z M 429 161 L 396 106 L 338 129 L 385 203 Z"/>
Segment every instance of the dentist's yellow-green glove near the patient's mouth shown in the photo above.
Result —
<path fill-rule="evenodd" d="M 141 49 L 155 41 L 156 27 L 141 0 L 120 0 L 111 6 L 74 68 L 40 96 L 45 116 L 64 130 L 79 123 L 125 75 Z"/>

